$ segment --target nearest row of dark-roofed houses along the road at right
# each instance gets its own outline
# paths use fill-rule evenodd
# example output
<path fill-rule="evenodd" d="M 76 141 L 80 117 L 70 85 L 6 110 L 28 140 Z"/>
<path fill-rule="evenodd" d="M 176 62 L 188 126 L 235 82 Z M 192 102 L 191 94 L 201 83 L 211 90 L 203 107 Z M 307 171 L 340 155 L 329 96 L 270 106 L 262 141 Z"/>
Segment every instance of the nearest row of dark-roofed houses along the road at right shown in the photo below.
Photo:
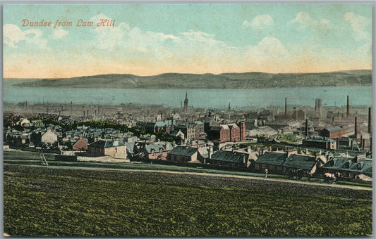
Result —
<path fill-rule="evenodd" d="M 338 174 L 344 179 L 372 180 L 372 160 L 360 157 L 331 157 L 325 155 L 305 155 L 291 152 L 265 153 L 250 150 L 218 150 L 212 148 L 192 148 L 178 146 L 167 154 L 167 160 L 173 162 L 190 162 L 212 164 L 222 167 L 255 169 L 272 174 L 290 174 L 301 170 L 304 175 Z"/>

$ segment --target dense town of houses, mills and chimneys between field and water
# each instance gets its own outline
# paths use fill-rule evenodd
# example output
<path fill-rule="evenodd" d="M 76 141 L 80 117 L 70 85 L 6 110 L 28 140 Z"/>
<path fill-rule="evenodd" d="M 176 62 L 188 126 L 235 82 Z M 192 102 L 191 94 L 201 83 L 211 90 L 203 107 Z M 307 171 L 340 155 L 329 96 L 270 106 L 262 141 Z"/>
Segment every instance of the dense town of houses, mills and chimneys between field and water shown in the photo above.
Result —
<path fill-rule="evenodd" d="M 59 124 L 44 124 L 41 120 L 28 120 L 24 115 L 5 112 L 4 147 L 47 149 L 60 153 L 70 151 L 85 157 L 268 169 L 277 174 L 301 169 L 305 174 L 321 170 L 341 171 L 341 175 L 349 178 L 358 174 L 372 176 L 372 167 L 369 167 L 372 157 L 371 111 L 368 108 L 368 118 L 362 109 L 351 114 L 348 102 L 346 113 L 340 113 L 340 108 L 323 108 L 320 98 L 316 99 L 314 110 L 293 107 L 293 111 L 289 112 L 287 98 L 282 111 L 272 106 L 254 111 L 234 110 L 230 104 L 226 110 L 204 110 L 189 108 L 186 94 L 181 109 L 154 105 L 140 112 L 137 106 L 121 105 L 109 110 L 111 114 L 98 107 L 94 114 L 83 110 L 83 115 L 78 117 L 61 115 L 61 111 L 59 114 L 37 115 L 62 124 L 102 120 L 146 132 L 141 135 L 85 126 L 67 130 Z M 70 107 L 73 108 L 72 105 Z M 130 111 L 123 112 L 124 109 Z M 99 115 L 99 110 L 102 115 Z M 35 115 L 29 116 L 29 119 L 35 118 Z M 162 142 L 157 137 L 160 132 L 171 136 L 174 142 Z M 286 142 L 284 138 L 293 139 Z M 241 143 L 243 146 L 259 144 L 244 148 L 239 147 Z M 265 144 L 267 147 L 303 148 L 310 152 L 321 149 L 325 154 L 315 155 L 304 150 L 276 151 Z M 333 165 L 329 166 L 329 162 Z"/>

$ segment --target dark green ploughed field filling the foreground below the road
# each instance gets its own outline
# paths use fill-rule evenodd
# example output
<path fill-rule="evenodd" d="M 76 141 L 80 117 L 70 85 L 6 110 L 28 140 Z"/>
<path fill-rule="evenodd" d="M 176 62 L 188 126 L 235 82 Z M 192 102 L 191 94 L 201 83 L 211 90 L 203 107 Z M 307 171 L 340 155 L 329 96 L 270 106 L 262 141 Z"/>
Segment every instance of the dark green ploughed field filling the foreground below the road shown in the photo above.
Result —
<path fill-rule="evenodd" d="M 11 236 L 372 234 L 372 190 L 4 164 Z"/>

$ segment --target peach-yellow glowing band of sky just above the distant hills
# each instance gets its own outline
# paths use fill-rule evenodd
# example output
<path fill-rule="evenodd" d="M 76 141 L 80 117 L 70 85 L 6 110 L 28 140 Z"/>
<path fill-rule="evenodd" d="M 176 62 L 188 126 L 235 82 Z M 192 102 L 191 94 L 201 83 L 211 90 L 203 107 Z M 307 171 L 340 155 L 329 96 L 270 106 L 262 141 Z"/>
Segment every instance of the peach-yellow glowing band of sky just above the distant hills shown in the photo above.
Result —
<path fill-rule="evenodd" d="M 207 68 L 202 65 L 195 67 L 181 67 L 180 69 L 174 69 L 174 67 L 142 67 L 133 66 L 126 67 L 121 64 L 93 64 L 92 66 L 85 67 L 83 69 L 79 66 L 60 66 L 60 67 L 47 67 L 46 65 L 13 65 L 10 64 L 5 67 L 7 63 L 4 61 L 4 78 L 71 78 L 71 77 L 83 77 L 92 75 L 107 75 L 107 74 L 131 74 L 138 76 L 152 76 L 160 75 L 164 73 L 186 73 L 186 74 L 214 74 L 219 75 L 222 73 L 242 73 L 242 72 L 265 72 L 265 73 L 320 73 L 320 72 L 337 72 L 346 70 L 372 70 L 372 64 L 369 68 L 362 67 L 362 64 L 346 64 L 346 65 L 325 65 L 314 64 L 310 60 L 305 60 L 300 64 L 292 65 L 289 69 L 278 69 L 273 67 L 265 67 L 265 70 L 260 70 L 254 67 L 241 68 L 241 67 L 211 67 Z M 99 65 L 106 65 L 106 67 L 100 68 Z M 309 66 L 310 67 L 307 67 Z"/>

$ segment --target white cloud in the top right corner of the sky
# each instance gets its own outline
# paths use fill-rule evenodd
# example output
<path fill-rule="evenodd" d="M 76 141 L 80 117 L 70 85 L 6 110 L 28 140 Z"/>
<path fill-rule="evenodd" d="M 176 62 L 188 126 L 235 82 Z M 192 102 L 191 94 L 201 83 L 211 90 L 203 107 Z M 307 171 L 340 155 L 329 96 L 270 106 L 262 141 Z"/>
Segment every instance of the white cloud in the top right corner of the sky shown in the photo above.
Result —
<path fill-rule="evenodd" d="M 356 33 L 356 40 L 371 39 L 370 32 L 365 30 L 365 27 L 371 22 L 368 18 L 365 18 L 362 15 L 356 15 L 352 12 L 345 13 L 344 18 L 350 22 L 353 32 Z"/>

